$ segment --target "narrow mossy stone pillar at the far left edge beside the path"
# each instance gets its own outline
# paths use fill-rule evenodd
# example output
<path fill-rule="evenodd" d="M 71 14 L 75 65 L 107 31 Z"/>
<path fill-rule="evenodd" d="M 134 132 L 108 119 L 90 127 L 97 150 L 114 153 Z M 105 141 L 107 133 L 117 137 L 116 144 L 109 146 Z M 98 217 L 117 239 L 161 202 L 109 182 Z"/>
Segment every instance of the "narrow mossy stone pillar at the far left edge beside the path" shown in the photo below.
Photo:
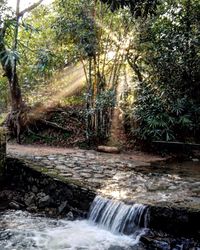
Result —
<path fill-rule="evenodd" d="M 6 131 L 0 127 L 0 180 L 2 180 L 5 171 L 6 159 Z"/>

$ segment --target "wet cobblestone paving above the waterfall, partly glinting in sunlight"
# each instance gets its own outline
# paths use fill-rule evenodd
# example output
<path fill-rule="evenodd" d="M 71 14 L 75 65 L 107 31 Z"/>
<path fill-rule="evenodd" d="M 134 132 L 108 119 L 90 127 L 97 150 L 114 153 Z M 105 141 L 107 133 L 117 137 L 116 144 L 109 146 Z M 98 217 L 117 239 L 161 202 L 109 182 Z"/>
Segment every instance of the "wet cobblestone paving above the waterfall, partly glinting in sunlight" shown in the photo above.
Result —
<path fill-rule="evenodd" d="M 144 204 L 173 204 L 200 209 L 200 163 L 188 162 L 164 166 L 86 150 L 56 154 L 30 154 L 10 151 L 9 155 L 78 181 L 99 194 Z"/>

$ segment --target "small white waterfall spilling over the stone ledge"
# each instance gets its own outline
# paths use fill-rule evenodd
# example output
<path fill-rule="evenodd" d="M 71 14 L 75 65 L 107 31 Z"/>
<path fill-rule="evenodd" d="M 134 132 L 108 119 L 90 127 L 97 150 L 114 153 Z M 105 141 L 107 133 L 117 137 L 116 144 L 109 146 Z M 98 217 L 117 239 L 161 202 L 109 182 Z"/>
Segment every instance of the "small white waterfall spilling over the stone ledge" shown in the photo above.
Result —
<path fill-rule="evenodd" d="M 91 205 L 88 219 L 113 233 L 129 235 L 147 227 L 148 213 L 144 205 L 126 205 L 97 196 Z"/>

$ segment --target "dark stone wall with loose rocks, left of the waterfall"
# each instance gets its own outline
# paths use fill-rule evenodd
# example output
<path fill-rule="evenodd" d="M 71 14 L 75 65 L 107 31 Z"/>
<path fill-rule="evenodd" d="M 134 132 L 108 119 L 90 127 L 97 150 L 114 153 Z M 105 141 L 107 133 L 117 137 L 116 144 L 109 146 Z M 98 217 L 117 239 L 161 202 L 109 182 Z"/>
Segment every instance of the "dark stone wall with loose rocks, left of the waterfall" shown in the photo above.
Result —
<path fill-rule="evenodd" d="M 87 187 L 63 181 L 59 176 L 50 177 L 14 158 L 7 158 L 7 186 L 20 192 L 19 197 L 12 199 L 10 208 L 45 211 L 52 216 L 71 213 L 73 217 L 84 217 L 95 197 Z"/>

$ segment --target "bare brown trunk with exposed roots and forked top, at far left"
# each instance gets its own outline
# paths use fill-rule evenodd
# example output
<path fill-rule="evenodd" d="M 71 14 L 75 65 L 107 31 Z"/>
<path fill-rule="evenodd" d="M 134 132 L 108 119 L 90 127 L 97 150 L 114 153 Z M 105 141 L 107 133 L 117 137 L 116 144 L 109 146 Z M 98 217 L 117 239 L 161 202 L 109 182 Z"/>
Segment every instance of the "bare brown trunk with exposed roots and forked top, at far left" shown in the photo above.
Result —
<path fill-rule="evenodd" d="M 22 101 L 21 88 L 19 85 L 19 79 L 17 75 L 17 58 L 16 52 L 18 49 L 18 31 L 19 31 L 19 19 L 25 14 L 42 3 L 43 0 L 38 0 L 36 3 L 30 5 L 20 12 L 20 0 L 17 0 L 16 4 L 16 15 L 14 18 L 3 20 L 0 25 L 0 63 L 2 65 L 4 76 L 8 79 L 10 99 L 11 99 L 11 112 L 7 117 L 7 126 L 10 131 L 17 138 L 17 142 L 20 143 L 20 134 L 22 128 L 27 126 L 27 110 L 24 107 Z M 1 20 L 0 20 L 1 21 Z M 15 25 L 12 55 L 9 57 L 9 52 L 6 49 L 5 37 L 6 31 L 9 29 L 11 24 Z M 9 60 L 8 60 L 9 59 Z"/>

